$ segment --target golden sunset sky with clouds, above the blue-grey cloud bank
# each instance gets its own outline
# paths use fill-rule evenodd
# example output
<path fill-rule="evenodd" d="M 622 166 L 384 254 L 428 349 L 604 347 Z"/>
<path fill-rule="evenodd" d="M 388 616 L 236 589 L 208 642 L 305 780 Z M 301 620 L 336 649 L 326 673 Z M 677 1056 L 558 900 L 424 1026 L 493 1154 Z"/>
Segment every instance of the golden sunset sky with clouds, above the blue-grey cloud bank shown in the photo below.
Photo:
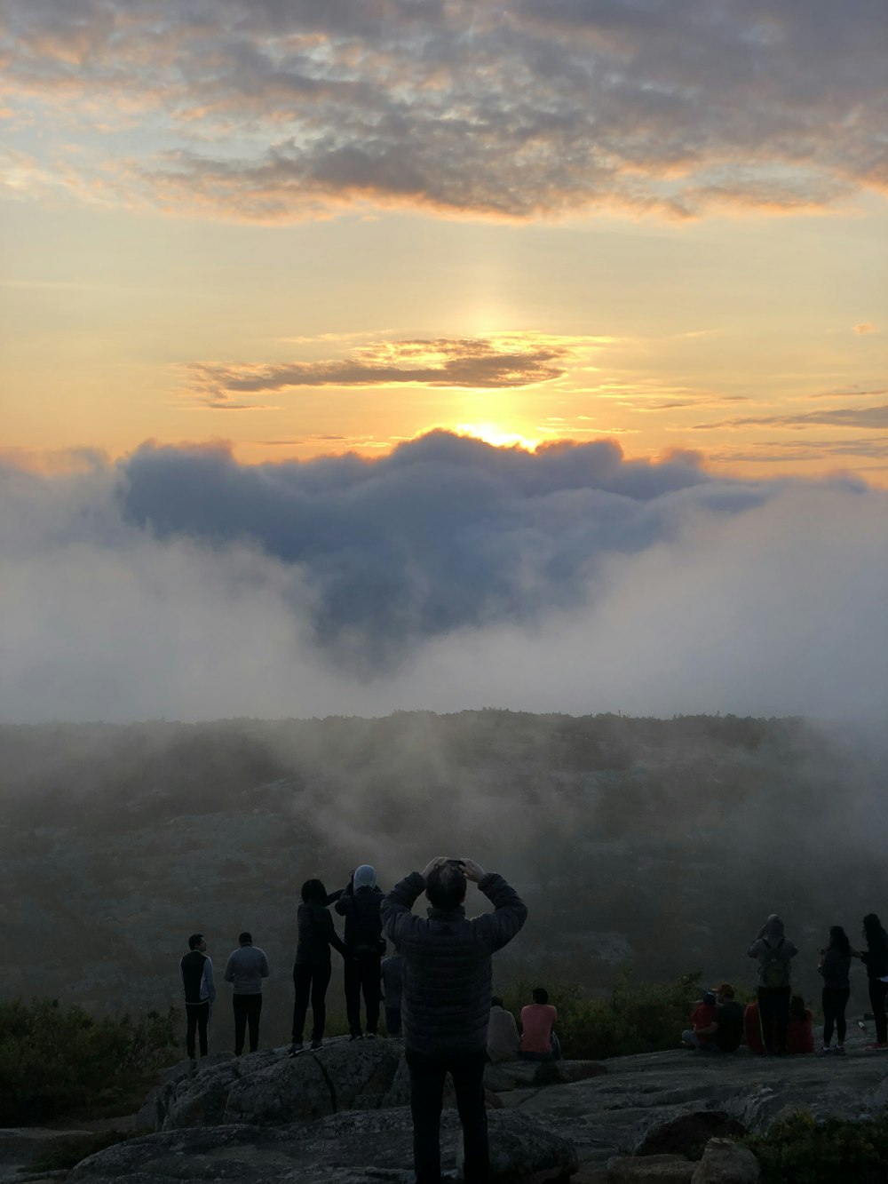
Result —
<path fill-rule="evenodd" d="M 884 0 L 2 0 L 8 461 L 888 484 Z"/>

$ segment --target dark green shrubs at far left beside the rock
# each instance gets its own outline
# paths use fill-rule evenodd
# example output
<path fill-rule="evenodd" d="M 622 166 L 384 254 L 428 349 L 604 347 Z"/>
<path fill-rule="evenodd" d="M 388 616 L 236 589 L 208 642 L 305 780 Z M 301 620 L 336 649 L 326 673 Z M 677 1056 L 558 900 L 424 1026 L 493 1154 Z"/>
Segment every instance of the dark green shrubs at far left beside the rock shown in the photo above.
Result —
<path fill-rule="evenodd" d="M 85 1107 L 91 1117 L 127 1113 L 175 1047 L 172 1008 L 96 1019 L 58 999 L 0 1003 L 0 1126 Z"/>

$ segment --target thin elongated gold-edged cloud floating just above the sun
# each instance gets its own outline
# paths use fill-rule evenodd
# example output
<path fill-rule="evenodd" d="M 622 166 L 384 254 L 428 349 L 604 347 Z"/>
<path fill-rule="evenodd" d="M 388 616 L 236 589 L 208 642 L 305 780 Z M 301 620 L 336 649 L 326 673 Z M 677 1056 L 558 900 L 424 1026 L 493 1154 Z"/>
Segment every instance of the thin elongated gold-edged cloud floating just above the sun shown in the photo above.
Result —
<path fill-rule="evenodd" d="M 239 395 L 300 387 L 384 386 L 508 388 L 549 382 L 566 373 L 572 348 L 564 339 L 448 337 L 374 342 L 324 361 L 188 362 L 186 393 L 212 408 L 255 406 Z"/>

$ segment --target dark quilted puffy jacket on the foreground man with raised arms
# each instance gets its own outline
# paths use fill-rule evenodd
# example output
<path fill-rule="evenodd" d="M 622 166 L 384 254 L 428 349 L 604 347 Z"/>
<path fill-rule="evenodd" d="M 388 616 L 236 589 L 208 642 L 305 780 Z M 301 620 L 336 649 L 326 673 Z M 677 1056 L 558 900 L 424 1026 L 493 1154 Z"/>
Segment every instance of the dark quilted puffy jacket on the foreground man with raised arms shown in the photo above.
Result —
<path fill-rule="evenodd" d="M 489 871 L 478 884 L 495 912 L 469 920 L 461 908 L 411 912 L 425 880 L 413 871 L 382 901 L 386 934 L 404 955 L 401 1023 L 414 1053 L 443 1056 L 487 1048 L 490 957 L 527 920 L 527 906 L 502 876 Z"/>

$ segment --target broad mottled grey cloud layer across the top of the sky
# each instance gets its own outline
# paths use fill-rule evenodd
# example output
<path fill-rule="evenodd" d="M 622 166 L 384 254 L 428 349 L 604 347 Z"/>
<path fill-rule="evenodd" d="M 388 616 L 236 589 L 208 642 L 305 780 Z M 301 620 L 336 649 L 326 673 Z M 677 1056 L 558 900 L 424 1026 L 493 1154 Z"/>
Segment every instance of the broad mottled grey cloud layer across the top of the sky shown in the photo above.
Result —
<path fill-rule="evenodd" d="M 6 9 L 25 189 L 259 221 L 365 204 L 687 218 L 888 189 L 882 0 Z"/>

